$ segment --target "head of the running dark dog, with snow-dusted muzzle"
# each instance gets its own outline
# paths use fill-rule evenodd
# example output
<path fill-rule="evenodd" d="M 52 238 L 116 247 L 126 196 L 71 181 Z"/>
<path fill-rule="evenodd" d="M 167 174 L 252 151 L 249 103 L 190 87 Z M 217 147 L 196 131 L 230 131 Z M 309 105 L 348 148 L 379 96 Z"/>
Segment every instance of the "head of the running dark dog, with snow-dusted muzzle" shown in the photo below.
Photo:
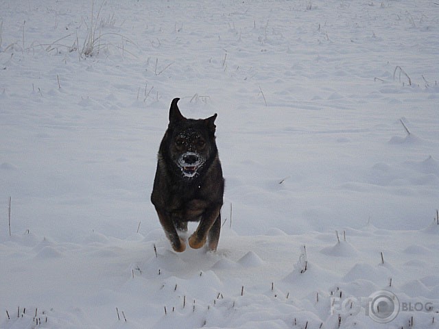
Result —
<path fill-rule="evenodd" d="M 195 178 L 215 156 L 215 119 L 187 119 L 178 109 L 178 98 L 169 109 L 169 125 L 161 146 L 161 153 L 167 153 L 174 170 L 183 178 Z M 166 145 L 166 146 L 165 146 Z M 163 154 L 162 154 L 163 155 Z"/>

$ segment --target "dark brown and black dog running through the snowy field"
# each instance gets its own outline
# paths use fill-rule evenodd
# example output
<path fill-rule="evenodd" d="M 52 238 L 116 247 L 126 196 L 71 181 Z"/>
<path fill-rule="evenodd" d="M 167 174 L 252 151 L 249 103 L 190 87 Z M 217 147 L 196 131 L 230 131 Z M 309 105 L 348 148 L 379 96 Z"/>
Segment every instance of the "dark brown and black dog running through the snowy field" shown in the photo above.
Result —
<path fill-rule="evenodd" d="M 215 143 L 215 119 L 187 119 L 175 98 L 169 109 L 169 125 L 158 149 L 158 161 L 151 202 L 167 239 L 176 252 L 184 252 L 185 241 L 178 231 L 187 232 L 189 221 L 199 221 L 189 236 L 189 246 L 208 244 L 217 249 L 221 230 L 224 178 Z"/>

